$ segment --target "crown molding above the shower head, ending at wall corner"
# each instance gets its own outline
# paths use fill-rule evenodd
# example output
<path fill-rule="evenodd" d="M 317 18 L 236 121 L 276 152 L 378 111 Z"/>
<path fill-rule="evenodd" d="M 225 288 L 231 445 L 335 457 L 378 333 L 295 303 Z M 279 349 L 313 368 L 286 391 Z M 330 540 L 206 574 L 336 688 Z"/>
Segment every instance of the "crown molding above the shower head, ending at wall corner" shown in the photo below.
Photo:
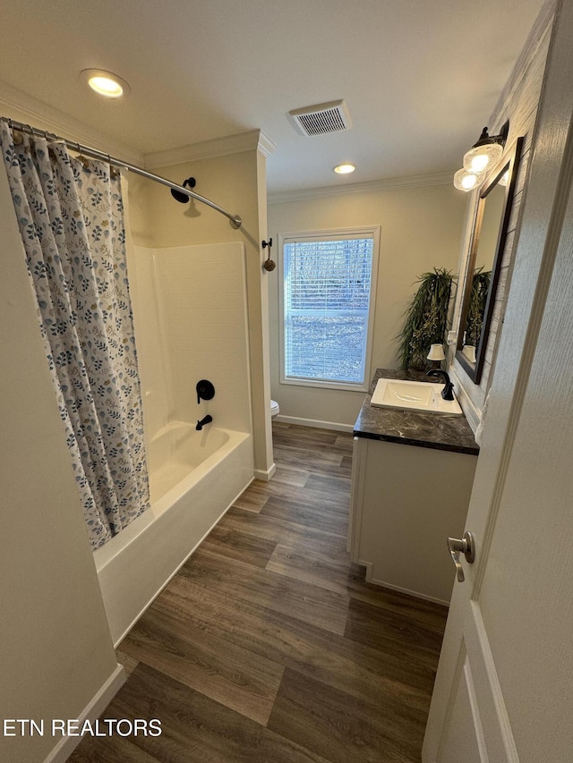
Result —
<path fill-rule="evenodd" d="M 227 157 L 229 154 L 240 154 L 243 151 L 261 151 L 269 157 L 276 150 L 275 144 L 261 130 L 237 132 L 225 138 L 203 140 L 179 148 L 169 148 L 167 151 L 157 151 L 145 155 L 146 169 L 183 165 L 186 162 L 213 157 Z"/>

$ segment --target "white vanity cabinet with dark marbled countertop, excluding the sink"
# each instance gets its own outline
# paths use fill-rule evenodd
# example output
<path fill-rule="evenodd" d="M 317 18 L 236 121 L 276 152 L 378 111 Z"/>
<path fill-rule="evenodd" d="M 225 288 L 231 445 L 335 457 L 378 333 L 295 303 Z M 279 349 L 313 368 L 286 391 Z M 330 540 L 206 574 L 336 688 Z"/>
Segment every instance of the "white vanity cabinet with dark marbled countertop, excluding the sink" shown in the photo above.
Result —
<path fill-rule="evenodd" d="M 379 369 L 371 394 L 389 374 L 416 378 Z M 464 533 L 478 446 L 463 416 L 373 408 L 371 394 L 355 425 L 348 550 L 367 581 L 448 604 L 447 538 Z"/>

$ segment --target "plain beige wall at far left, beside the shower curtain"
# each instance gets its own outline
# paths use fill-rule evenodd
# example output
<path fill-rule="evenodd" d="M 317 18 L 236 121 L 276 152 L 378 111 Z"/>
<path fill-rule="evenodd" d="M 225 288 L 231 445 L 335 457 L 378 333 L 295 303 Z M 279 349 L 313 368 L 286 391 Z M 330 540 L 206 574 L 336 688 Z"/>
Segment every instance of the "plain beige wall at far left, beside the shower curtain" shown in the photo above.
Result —
<path fill-rule="evenodd" d="M 121 677 L 4 172 L 0 228 L 0 717 L 50 723 Z M 57 742 L 0 733 L 0 759 L 43 760 Z"/>

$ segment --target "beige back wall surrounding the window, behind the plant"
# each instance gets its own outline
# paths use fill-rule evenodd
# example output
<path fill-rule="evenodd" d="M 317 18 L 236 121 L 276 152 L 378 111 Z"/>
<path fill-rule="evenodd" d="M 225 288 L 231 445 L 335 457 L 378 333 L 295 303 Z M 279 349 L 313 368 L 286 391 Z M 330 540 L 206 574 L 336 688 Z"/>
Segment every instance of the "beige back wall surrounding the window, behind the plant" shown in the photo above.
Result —
<path fill-rule="evenodd" d="M 453 174 L 452 174 L 453 177 Z M 381 225 L 372 367 L 398 368 L 396 336 L 414 296 L 415 280 L 433 267 L 456 272 L 467 199 L 452 183 L 386 188 L 269 204 L 269 236 L 278 233 Z M 280 254 L 273 251 L 277 259 Z M 269 275 L 270 379 L 281 417 L 351 428 L 363 392 L 280 384 L 278 269 Z"/>

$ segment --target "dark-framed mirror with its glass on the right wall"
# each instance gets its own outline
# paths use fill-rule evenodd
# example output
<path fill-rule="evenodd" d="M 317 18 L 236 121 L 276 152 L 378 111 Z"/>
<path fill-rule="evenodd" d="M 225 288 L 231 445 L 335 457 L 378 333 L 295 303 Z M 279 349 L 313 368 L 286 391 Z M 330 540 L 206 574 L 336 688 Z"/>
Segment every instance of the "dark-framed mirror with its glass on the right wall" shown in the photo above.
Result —
<path fill-rule="evenodd" d="M 475 213 L 456 351 L 475 384 L 482 377 L 522 146 L 518 138 L 513 154 L 484 182 Z"/>

